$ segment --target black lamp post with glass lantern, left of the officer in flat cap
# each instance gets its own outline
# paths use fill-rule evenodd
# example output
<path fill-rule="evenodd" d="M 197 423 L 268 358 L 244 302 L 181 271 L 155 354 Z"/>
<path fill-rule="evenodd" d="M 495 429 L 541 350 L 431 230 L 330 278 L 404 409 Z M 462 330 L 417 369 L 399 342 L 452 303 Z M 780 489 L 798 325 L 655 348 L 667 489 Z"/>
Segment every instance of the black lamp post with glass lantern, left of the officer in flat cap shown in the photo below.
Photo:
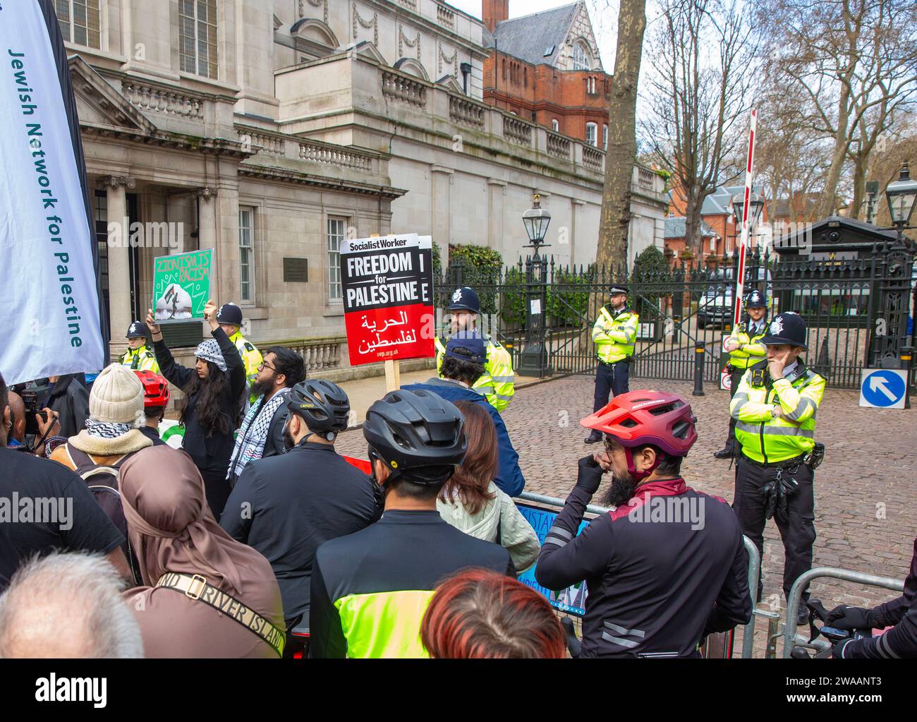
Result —
<path fill-rule="evenodd" d="M 547 247 L 545 236 L 551 214 L 541 207 L 538 194 L 532 196 L 532 207 L 522 215 L 522 222 L 530 241 L 523 248 L 535 249 L 535 252 L 525 259 L 525 350 L 519 360 L 519 372 L 543 378 L 553 370 L 547 365 L 545 348 L 547 262 L 538 251 Z"/>

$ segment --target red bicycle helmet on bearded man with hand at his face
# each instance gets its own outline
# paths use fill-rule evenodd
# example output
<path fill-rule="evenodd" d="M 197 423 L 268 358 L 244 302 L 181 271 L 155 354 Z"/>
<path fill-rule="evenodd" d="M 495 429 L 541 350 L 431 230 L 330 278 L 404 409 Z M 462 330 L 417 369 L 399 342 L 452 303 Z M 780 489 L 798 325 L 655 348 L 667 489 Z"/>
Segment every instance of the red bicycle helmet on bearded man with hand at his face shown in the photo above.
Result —
<path fill-rule="evenodd" d="M 626 449 L 651 444 L 672 456 L 685 456 L 697 441 L 691 405 L 664 391 L 630 391 L 615 396 L 580 424 L 613 437 Z"/>

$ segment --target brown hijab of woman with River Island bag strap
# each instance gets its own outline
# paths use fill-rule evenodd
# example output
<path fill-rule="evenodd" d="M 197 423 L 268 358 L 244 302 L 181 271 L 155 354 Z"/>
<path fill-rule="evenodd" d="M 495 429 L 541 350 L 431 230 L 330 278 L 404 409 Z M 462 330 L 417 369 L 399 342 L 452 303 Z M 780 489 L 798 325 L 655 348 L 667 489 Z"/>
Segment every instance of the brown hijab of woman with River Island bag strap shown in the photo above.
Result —
<path fill-rule="evenodd" d="M 191 457 L 169 446 L 145 449 L 121 467 L 121 500 L 143 582 L 165 572 L 207 583 L 274 619 L 280 594 L 271 564 L 216 523 Z"/>

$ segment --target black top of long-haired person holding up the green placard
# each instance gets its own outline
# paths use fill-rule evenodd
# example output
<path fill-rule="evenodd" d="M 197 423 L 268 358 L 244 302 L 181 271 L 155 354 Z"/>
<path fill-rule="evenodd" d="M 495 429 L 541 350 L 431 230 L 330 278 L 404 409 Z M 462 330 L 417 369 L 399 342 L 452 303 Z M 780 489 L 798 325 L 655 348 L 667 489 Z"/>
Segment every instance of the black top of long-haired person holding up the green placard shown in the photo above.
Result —
<path fill-rule="evenodd" d="M 197 419 L 196 406 L 199 394 L 193 394 L 185 401 L 187 413 L 185 414 L 182 449 L 188 452 L 200 472 L 207 474 L 222 472 L 225 476 L 226 467 L 229 465 L 229 457 L 232 455 L 233 447 L 236 444 L 233 436 L 236 421 L 236 401 L 238 394 L 241 394 L 245 388 L 245 367 L 242 365 L 242 359 L 238 355 L 236 346 L 226 336 L 226 331 L 216 327 L 212 331 L 212 335 L 216 339 L 216 343 L 219 344 L 220 350 L 223 352 L 223 359 L 226 361 L 226 375 L 229 383 L 226 386 L 226 392 L 219 400 L 219 405 L 226 417 L 229 418 L 229 432 L 227 434 L 214 432 L 212 436 L 207 436 L 206 431 L 204 431 Z M 183 390 L 188 383 L 191 383 L 197 377 L 196 369 L 185 368 L 175 362 L 164 340 L 155 341 L 153 349 L 156 350 L 156 361 L 160 364 L 160 372 L 172 385 Z"/>

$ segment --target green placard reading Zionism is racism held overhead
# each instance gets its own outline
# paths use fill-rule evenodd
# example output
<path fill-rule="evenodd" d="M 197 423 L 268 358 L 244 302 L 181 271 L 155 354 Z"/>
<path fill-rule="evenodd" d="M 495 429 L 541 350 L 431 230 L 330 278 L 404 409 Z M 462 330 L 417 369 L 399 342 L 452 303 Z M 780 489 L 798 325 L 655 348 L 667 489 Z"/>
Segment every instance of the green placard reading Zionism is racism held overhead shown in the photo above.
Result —
<path fill-rule="evenodd" d="M 210 298 L 214 250 L 193 250 L 153 260 L 153 317 L 158 324 L 204 318 Z"/>

